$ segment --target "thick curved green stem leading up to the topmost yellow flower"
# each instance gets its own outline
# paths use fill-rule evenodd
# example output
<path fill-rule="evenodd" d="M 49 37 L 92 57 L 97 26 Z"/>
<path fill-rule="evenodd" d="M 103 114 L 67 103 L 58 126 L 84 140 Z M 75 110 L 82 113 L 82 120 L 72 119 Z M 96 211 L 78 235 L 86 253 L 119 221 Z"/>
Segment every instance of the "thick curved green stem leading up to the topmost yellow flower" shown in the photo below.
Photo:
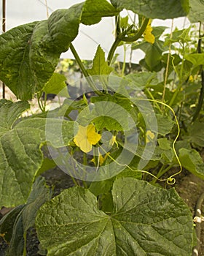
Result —
<path fill-rule="evenodd" d="M 138 32 L 133 36 L 133 37 L 126 37 L 127 31 L 121 33 L 121 34 L 117 34 L 117 37 L 113 43 L 113 45 L 111 46 L 111 49 L 109 50 L 109 55 L 107 58 L 107 62 L 110 65 L 111 61 L 114 57 L 114 52 L 117 49 L 118 45 L 120 42 L 135 42 L 136 40 L 138 40 L 142 34 L 144 34 L 144 31 L 146 29 L 147 24 L 149 23 L 149 18 L 145 18 L 144 22 L 141 25 L 141 28 L 138 30 Z"/>

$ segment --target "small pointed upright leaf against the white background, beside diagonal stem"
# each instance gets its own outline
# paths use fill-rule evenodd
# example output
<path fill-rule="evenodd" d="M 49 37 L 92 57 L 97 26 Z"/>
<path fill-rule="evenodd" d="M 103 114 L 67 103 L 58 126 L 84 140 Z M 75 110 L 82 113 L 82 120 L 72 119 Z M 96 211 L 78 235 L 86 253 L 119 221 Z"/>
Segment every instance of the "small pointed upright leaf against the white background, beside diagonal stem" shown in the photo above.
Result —
<path fill-rule="evenodd" d="M 105 60 L 105 53 L 103 52 L 100 45 L 98 45 L 95 57 L 93 59 L 93 67 L 87 69 L 90 75 L 109 75 L 113 70 L 112 67 L 109 67 L 108 63 Z"/>

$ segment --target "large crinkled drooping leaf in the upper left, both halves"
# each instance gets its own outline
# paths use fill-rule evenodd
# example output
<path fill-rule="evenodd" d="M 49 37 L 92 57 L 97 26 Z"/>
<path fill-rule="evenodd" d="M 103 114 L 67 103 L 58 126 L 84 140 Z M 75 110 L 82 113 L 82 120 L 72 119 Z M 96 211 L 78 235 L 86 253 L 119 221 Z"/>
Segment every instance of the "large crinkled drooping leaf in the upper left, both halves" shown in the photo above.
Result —
<path fill-rule="evenodd" d="M 82 4 L 57 10 L 0 36 L 0 78 L 17 98 L 31 99 L 50 80 L 60 53 L 78 34 Z"/>

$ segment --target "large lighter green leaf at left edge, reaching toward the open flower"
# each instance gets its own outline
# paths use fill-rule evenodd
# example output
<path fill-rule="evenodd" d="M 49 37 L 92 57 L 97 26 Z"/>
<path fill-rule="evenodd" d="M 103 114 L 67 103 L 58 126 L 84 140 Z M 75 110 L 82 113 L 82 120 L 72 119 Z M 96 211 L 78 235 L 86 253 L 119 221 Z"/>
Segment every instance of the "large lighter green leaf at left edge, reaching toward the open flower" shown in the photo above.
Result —
<path fill-rule="evenodd" d="M 74 122 L 60 118 L 26 118 L 15 127 L 15 114 L 28 106 L 25 102 L 1 105 L 5 111 L 0 138 L 0 207 L 18 206 L 26 202 L 37 171 L 42 165 L 42 144 L 68 145 L 74 138 Z"/>

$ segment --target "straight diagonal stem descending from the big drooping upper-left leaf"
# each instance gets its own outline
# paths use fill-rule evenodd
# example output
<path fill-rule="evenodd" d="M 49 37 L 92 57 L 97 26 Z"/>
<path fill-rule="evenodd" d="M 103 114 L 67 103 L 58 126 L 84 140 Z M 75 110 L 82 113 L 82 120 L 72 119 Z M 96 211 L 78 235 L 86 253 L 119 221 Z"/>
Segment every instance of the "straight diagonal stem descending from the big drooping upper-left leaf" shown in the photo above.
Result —
<path fill-rule="evenodd" d="M 90 78 L 90 75 L 88 74 L 87 69 L 85 69 L 84 64 L 82 64 L 82 61 L 79 58 L 78 53 L 76 53 L 76 50 L 74 48 L 74 45 L 72 45 L 72 43 L 70 43 L 69 48 L 70 48 L 71 52 L 73 53 L 77 64 L 79 64 L 79 67 L 82 70 L 82 73 L 85 76 L 85 78 L 86 78 L 87 82 L 89 83 L 90 87 L 93 89 L 93 91 L 95 91 L 96 94 L 102 95 L 101 91 L 98 91 L 98 89 L 95 87 L 95 84 L 93 83 L 93 80 Z"/>

